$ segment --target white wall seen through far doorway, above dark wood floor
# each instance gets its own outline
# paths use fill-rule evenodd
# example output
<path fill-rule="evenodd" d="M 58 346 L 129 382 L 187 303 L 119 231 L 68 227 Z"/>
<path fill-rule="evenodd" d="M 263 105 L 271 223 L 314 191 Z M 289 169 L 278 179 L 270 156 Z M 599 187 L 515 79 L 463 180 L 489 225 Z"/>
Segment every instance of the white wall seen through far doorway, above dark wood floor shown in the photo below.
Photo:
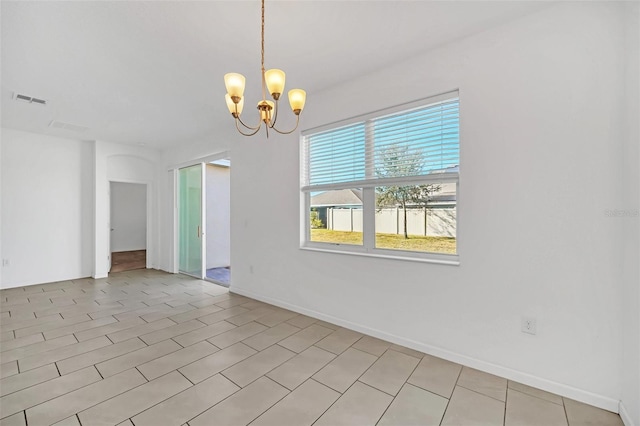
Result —
<path fill-rule="evenodd" d="M 111 182 L 111 252 L 147 248 L 147 186 Z"/>

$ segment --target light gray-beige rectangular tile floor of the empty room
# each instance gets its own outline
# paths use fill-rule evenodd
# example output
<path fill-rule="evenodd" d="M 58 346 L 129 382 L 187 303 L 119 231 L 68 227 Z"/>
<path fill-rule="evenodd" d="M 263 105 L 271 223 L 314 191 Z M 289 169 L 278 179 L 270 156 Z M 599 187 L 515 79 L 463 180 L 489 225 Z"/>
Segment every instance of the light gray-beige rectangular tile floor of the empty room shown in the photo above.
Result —
<path fill-rule="evenodd" d="M 182 275 L 0 291 L 2 425 L 621 425 Z"/>

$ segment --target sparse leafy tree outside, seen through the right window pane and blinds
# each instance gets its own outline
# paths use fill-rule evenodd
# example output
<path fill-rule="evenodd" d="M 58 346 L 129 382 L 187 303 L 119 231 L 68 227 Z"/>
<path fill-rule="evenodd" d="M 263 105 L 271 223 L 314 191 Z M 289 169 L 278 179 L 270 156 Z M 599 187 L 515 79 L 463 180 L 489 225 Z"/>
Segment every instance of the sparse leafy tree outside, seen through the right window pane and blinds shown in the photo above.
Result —
<path fill-rule="evenodd" d="M 424 156 L 421 149 L 409 150 L 405 144 L 394 143 L 378 152 L 376 176 L 392 178 L 421 175 L 424 169 Z M 376 187 L 376 205 L 378 209 L 401 206 L 404 217 L 404 238 L 407 233 L 407 207 L 427 207 L 433 193 L 440 191 L 438 184 L 379 186 Z"/>

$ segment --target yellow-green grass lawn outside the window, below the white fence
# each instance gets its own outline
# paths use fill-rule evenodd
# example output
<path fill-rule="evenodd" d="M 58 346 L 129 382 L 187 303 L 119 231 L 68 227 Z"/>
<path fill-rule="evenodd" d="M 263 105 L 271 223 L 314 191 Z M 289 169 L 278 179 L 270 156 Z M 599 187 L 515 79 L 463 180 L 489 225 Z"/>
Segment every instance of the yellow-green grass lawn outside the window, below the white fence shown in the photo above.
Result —
<path fill-rule="evenodd" d="M 312 229 L 311 241 L 334 244 L 362 244 L 362 232 Z M 384 249 L 428 251 L 432 253 L 456 253 L 456 239 L 451 237 L 421 237 L 396 234 L 376 234 L 376 247 Z"/>

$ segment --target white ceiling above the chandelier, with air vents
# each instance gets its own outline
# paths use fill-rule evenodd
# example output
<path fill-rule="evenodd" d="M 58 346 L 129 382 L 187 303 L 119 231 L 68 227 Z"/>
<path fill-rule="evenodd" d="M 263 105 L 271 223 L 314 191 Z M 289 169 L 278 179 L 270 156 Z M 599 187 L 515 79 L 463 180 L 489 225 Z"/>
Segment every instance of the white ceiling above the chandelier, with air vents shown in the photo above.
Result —
<path fill-rule="evenodd" d="M 267 68 L 313 93 L 533 13 L 541 2 L 267 1 Z M 2 125 L 166 148 L 233 126 L 223 75 L 259 99 L 260 3 L 2 1 Z M 375 90 L 375 88 L 372 88 Z M 47 106 L 12 100 L 43 98 Z M 251 110 L 247 108 L 248 110 Z M 49 127 L 52 120 L 86 126 Z"/>

